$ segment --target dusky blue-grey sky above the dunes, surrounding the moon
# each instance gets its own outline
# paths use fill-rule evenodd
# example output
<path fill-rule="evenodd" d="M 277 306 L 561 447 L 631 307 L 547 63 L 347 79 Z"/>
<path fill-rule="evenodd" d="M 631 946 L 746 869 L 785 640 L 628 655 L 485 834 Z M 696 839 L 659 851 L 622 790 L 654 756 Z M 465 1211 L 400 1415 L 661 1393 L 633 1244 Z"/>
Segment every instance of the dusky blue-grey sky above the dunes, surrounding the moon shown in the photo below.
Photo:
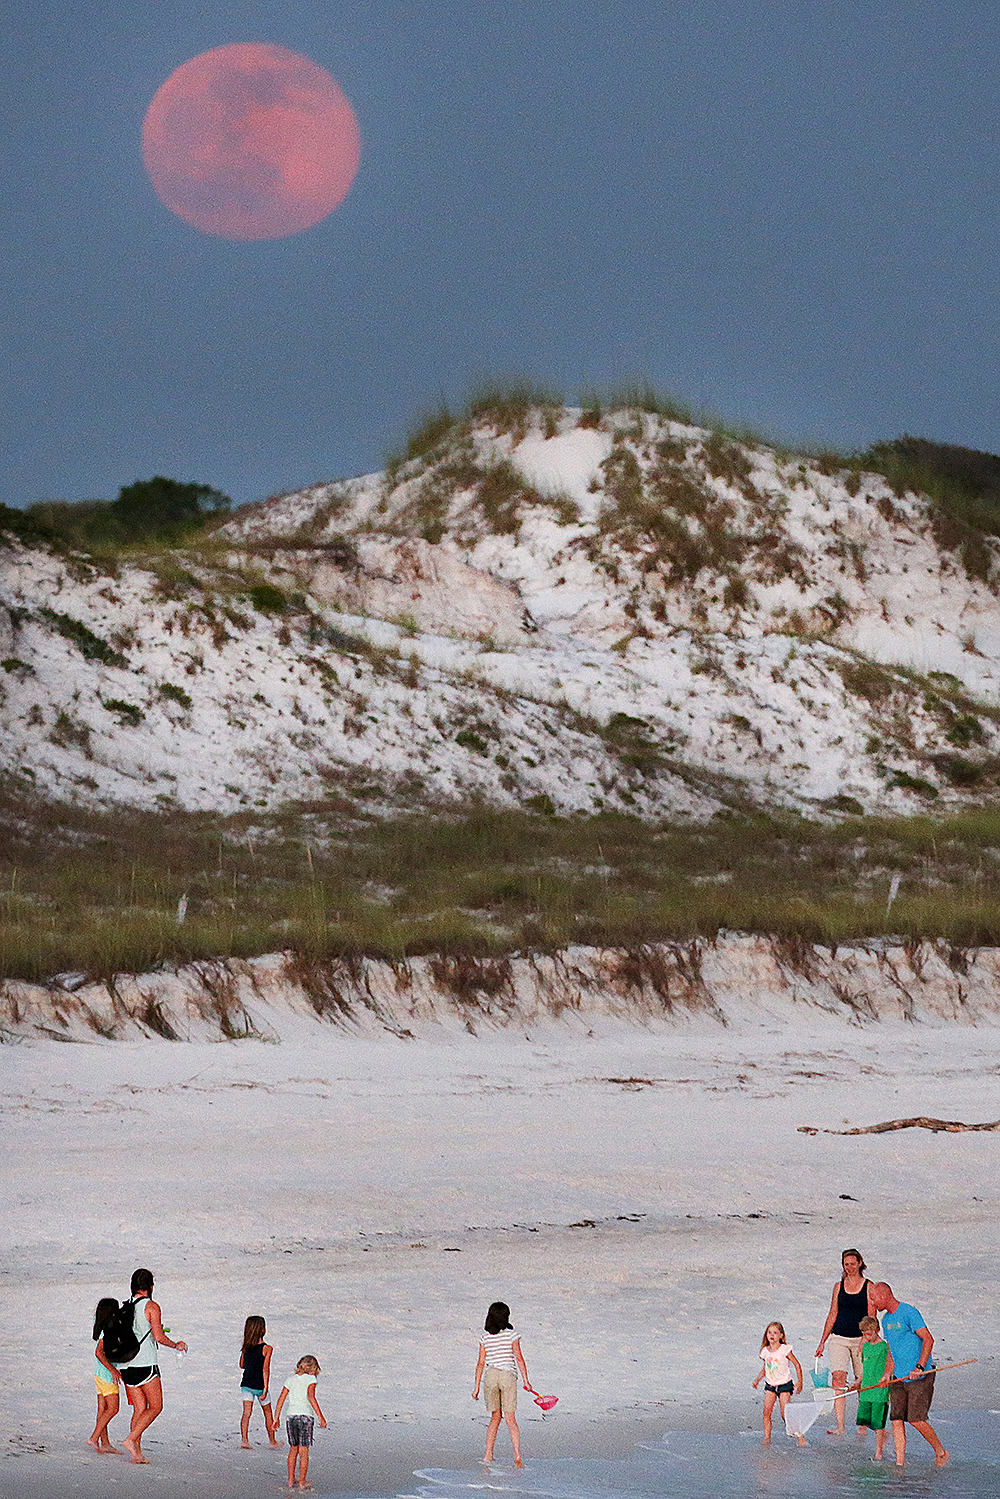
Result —
<path fill-rule="evenodd" d="M 6 504 L 262 499 L 511 378 L 1000 451 L 996 0 L 9 0 L 0 34 Z M 142 163 L 157 88 L 237 42 L 360 126 L 288 238 L 201 232 Z"/>

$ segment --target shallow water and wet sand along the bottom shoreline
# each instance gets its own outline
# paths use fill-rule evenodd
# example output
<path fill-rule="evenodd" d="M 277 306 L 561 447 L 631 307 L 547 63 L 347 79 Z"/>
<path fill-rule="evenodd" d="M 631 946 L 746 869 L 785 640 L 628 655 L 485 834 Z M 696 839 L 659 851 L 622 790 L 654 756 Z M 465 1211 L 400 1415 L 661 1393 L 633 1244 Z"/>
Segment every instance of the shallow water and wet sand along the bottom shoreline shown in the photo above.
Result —
<path fill-rule="evenodd" d="M 807 1451 L 775 1429 L 772 1447 L 762 1447 L 759 1421 L 748 1426 L 730 1417 L 742 1402 L 705 1406 L 675 1406 L 669 1417 L 628 1415 L 601 1420 L 570 1417 L 562 1423 L 529 1421 L 523 1427 L 525 1469 L 513 1468 L 508 1451 L 487 1471 L 481 1465 L 486 1423 L 459 1418 L 430 1421 L 414 1430 L 393 1423 L 331 1426 L 316 1439 L 310 1481 L 318 1499 L 396 1499 L 466 1490 L 502 1490 L 525 1495 L 565 1495 L 592 1499 L 609 1495 L 663 1493 L 664 1499 L 738 1493 L 739 1474 L 781 1474 L 783 1493 L 792 1496 L 825 1492 L 843 1495 L 867 1490 L 876 1475 L 892 1475 L 897 1499 L 910 1493 L 993 1499 L 1000 1486 L 1000 1414 L 942 1408 L 936 1412 L 940 1433 L 952 1450 L 946 1469 L 936 1469 L 927 1444 L 910 1432 L 907 1466 L 898 1471 L 888 1459 L 874 1468 L 871 1436 L 859 1444 L 849 1427 L 844 1442 L 820 1432 Z M 759 1415 L 759 1412 L 757 1412 Z M 504 1435 L 501 1435 L 501 1444 Z M 259 1499 L 280 1493 L 285 1484 L 285 1451 L 270 1451 L 264 1442 L 250 1453 L 228 1442 L 171 1442 L 150 1439 L 151 1463 L 136 1469 L 124 1457 L 97 1457 L 85 1447 L 22 1454 L 9 1451 L 0 1466 L 4 1499 L 106 1499 L 109 1493 L 184 1495 L 186 1499 Z M 498 1451 L 499 1451 L 498 1445 Z M 661 1457 L 667 1462 L 657 1463 Z M 678 1469 L 675 1465 L 687 1465 Z M 706 1487 L 708 1477 L 714 1489 Z M 726 1477 L 723 1477 L 726 1474 Z M 993 1477 L 991 1477 L 993 1474 Z M 652 1478 L 651 1478 L 652 1475 Z M 945 1477 L 946 1475 L 946 1477 Z M 675 1486 L 676 1478 L 676 1486 Z M 928 1490 L 928 1483 L 933 1489 Z M 732 1487 L 727 1487 L 732 1486 Z M 817 1487 L 819 1484 L 819 1487 Z"/>

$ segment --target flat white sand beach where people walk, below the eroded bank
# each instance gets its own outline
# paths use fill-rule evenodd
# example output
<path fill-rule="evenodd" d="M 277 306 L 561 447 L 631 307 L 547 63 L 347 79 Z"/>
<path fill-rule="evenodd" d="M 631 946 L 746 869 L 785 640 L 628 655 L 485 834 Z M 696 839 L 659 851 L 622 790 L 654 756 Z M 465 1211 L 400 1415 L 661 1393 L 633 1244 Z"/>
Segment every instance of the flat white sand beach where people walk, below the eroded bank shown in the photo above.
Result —
<path fill-rule="evenodd" d="M 301 1354 L 322 1364 L 321 1493 L 409 1492 L 414 1468 L 481 1457 L 493 1298 L 559 1396 L 544 1418 L 520 1397 L 529 1459 L 756 1427 L 762 1328 L 781 1318 L 808 1369 L 846 1246 L 924 1312 L 942 1361 L 982 1360 L 942 1376 L 937 1405 L 997 1405 L 1000 1136 L 799 1130 L 1000 1117 L 993 1027 L 31 1040 L 0 1048 L 0 1096 L 4 1495 L 276 1492 L 259 1415 L 238 1448 L 249 1313 L 274 1390 Z M 190 1345 L 163 1352 L 142 1471 L 85 1447 L 93 1307 L 136 1265 Z"/>

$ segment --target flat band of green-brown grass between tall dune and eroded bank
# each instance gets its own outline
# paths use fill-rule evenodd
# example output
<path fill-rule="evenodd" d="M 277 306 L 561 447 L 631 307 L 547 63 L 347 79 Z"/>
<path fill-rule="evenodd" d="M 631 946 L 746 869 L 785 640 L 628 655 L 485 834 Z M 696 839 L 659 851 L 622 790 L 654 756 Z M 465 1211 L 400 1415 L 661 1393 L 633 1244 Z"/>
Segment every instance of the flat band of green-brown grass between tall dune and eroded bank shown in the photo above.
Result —
<path fill-rule="evenodd" d="M 1000 809 L 651 827 L 486 809 L 369 823 L 321 806 L 258 821 L 100 817 L 10 799 L 0 817 L 4 977 L 277 949 L 403 958 L 634 946 L 720 929 L 1000 941 Z"/>

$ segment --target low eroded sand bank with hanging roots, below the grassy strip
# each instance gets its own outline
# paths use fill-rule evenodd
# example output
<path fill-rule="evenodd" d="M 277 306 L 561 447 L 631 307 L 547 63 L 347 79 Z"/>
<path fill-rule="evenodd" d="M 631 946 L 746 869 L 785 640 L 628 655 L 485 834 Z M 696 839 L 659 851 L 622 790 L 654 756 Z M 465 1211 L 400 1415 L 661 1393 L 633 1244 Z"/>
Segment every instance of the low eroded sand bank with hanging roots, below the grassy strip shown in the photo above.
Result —
<path fill-rule="evenodd" d="M 577 1030 L 601 1019 L 723 1028 L 810 1016 L 853 1027 L 996 1025 L 1000 949 L 934 941 L 823 947 L 723 934 L 714 941 L 391 962 L 279 952 L 144 974 L 0 985 L 4 1040 L 280 1040 L 316 1025 L 408 1040 L 540 1022 Z"/>

